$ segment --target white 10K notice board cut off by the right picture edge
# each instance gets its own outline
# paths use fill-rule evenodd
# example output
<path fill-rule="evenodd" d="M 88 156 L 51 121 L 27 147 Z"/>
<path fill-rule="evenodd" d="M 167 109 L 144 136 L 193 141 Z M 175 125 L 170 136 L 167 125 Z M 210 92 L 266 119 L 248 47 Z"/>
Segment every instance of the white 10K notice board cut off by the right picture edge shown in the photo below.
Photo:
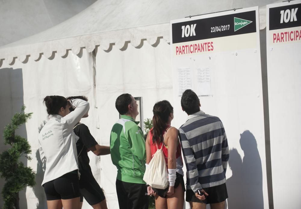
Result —
<path fill-rule="evenodd" d="M 301 208 L 301 1 L 267 5 L 274 208 Z M 288 192 L 283 192 L 288 191 Z M 288 201 L 283 201 L 283 200 Z"/>

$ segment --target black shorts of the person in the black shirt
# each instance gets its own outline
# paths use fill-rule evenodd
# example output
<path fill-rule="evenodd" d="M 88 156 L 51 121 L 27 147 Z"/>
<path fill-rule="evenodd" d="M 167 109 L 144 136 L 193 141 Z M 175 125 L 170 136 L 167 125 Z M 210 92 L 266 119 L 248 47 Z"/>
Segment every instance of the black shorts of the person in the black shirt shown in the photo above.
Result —
<path fill-rule="evenodd" d="M 90 205 L 97 204 L 106 199 L 104 192 L 90 171 L 80 171 L 79 191 L 80 201 L 82 202 L 83 198 L 85 198 Z"/>

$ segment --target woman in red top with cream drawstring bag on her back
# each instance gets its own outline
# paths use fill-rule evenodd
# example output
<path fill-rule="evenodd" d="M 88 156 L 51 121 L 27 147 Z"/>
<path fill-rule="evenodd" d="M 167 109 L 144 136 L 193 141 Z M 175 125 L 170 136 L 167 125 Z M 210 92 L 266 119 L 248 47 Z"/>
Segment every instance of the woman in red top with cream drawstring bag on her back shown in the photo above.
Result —
<path fill-rule="evenodd" d="M 170 126 L 173 107 L 163 100 L 154 105 L 153 113 L 154 126 L 145 142 L 144 181 L 150 185 L 147 188 L 148 194 L 155 196 L 156 208 L 182 209 L 185 192 L 183 161 L 178 129 Z"/>

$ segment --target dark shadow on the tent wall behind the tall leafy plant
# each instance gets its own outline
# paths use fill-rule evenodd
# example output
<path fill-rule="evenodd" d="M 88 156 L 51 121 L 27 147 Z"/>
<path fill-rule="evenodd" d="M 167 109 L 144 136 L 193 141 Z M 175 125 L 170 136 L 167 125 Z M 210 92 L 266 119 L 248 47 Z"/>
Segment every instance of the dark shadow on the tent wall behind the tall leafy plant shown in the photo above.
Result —
<path fill-rule="evenodd" d="M 20 112 L 23 100 L 23 74 L 22 69 L 2 68 L 0 69 L 0 153 L 8 149 L 9 146 L 3 144 L 3 130 L 5 125 L 11 122 L 12 116 Z M 27 138 L 25 125 L 22 125 L 16 134 Z M 21 157 L 20 160 L 27 166 L 27 159 Z M 5 181 L 0 178 L 0 188 L 2 190 Z M 19 192 L 20 207 L 27 209 L 26 188 Z M 0 197 L 0 206 L 3 205 L 2 196 Z"/>

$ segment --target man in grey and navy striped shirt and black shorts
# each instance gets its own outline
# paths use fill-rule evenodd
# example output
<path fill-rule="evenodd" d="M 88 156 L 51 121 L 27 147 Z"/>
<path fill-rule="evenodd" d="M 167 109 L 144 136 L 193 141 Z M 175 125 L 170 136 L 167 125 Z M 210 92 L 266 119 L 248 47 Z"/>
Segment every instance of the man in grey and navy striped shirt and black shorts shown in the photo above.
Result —
<path fill-rule="evenodd" d="M 226 169 L 229 159 L 222 121 L 200 110 L 200 100 L 190 89 L 181 99 L 188 120 L 179 128 L 187 168 L 186 201 L 191 208 L 224 209 L 228 198 Z"/>

